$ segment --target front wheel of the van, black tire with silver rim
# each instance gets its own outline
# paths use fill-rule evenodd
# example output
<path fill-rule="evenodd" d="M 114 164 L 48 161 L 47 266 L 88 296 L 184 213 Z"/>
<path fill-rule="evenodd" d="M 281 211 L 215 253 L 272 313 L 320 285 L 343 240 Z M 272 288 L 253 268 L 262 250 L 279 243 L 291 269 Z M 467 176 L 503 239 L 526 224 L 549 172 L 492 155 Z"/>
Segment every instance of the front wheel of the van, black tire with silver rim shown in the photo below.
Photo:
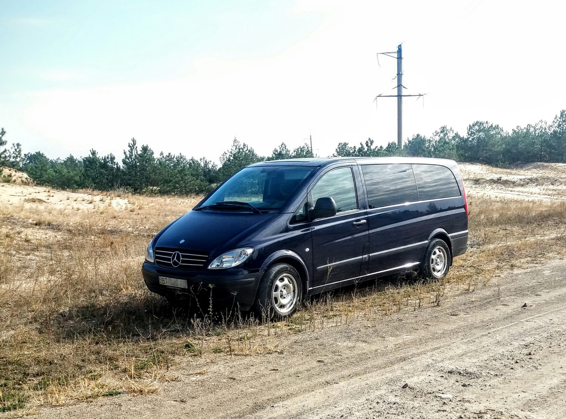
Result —
<path fill-rule="evenodd" d="M 258 318 L 291 316 L 303 297 L 303 283 L 297 270 L 288 264 L 275 264 L 263 275 L 254 303 Z"/>

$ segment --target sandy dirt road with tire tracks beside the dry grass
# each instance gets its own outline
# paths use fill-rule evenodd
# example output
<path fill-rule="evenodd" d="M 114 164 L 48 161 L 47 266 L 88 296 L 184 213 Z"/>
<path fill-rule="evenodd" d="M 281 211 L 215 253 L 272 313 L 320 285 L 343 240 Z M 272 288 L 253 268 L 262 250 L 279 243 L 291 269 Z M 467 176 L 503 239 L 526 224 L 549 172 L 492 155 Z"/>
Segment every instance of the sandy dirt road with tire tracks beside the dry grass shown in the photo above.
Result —
<path fill-rule="evenodd" d="M 191 362 L 157 395 L 39 417 L 559 418 L 565 320 L 566 262 L 553 261 L 438 307 L 290 336 L 280 353 Z"/>

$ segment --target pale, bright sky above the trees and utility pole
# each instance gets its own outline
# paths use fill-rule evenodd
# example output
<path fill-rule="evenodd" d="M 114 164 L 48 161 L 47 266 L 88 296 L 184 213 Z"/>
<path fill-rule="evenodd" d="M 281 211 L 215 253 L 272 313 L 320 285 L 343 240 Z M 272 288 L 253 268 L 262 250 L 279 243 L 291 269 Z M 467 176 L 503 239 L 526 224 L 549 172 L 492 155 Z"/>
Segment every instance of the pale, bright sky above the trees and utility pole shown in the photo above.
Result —
<path fill-rule="evenodd" d="M 404 138 L 475 120 L 504 129 L 566 109 L 566 3 L 557 1 L 0 0 L 0 127 L 24 152 L 218 161 L 234 137 L 260 155 L 312 135 Z"/>

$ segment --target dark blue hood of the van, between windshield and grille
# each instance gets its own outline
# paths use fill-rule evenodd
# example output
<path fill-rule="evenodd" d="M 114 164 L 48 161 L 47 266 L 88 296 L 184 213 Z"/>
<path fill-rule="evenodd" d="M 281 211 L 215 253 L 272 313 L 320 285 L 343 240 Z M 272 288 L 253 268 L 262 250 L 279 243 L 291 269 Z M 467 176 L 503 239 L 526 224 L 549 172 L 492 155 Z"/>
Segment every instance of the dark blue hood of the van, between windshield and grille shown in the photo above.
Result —
<path fill-rule="evenodd" d="M 276 213 L 255 214 L 242 211 L 188 211 L 157 239 L 156 247 L 200 250 L 210 256 L 247 245 L 240 240 Z M 179 241 L 183 243 L 179 243 Z"/>

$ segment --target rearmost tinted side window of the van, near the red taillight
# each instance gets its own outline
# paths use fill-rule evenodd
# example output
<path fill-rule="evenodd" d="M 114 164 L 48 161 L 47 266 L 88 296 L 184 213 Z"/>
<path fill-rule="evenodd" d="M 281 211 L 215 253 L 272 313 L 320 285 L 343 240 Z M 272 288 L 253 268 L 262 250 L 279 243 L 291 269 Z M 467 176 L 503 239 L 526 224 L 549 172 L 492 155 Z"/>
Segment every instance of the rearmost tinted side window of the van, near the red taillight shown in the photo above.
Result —
<path fill-rule="evenodd" d="M 419 200 L 460 196 L 460 188 L 452 170 L 444 166 L 413 165 L 419 190 Z"/>

